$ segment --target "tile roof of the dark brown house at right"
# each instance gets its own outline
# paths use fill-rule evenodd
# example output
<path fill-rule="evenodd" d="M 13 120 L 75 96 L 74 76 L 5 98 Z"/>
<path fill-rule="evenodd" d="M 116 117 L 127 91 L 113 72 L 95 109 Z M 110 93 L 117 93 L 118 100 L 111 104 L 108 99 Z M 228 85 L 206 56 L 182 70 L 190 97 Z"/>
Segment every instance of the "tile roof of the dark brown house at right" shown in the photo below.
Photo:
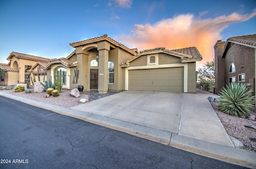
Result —
<path fill-rule="evenodd" d="M 229 37 L 227 41 L 234 41 L 238 43 L 256 46 L 256 34 Z"/>

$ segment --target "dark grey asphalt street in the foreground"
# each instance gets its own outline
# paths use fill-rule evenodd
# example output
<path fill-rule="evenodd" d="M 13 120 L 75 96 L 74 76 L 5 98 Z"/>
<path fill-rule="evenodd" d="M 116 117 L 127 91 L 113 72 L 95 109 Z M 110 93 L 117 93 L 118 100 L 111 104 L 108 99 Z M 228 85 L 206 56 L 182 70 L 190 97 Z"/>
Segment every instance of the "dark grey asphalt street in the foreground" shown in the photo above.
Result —
<path fill-rule="evenodd" d="M 0 168 L 242 169 L 0 96 Z"/>

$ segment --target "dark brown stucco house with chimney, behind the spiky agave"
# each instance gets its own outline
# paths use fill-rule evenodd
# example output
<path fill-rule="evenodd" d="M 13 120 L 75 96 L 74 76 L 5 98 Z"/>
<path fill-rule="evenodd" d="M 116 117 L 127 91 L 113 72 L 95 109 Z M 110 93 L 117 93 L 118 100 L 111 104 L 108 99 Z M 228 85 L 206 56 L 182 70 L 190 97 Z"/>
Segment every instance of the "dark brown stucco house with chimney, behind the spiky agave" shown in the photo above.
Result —
<path fill-rule="evenodd" d="M 255 92 L 256 34 L 218 40 L 215 51 L 215 94 L 229 83 L 250 83 Z"/>

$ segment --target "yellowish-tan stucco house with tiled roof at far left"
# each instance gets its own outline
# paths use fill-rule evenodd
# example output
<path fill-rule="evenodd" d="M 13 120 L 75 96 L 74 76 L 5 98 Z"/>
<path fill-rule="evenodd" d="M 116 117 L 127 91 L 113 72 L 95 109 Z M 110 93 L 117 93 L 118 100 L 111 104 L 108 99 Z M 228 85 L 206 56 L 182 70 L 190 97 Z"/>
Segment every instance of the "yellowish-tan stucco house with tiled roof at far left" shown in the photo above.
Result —
<path fill-rule="evenodd" d="M 34 73 L 37 73 L 37 65 L 45 66 L 45 63 L 49 62 L 49 59 L 44 57 L 27 55 L 18 52 L 10 53 L 7 60 L 10 61 L 8 64 L 0 63 L 0 69 L 4 69 L 5 71 L 5 76 L 1 78 L 0 85 L 14 85 L 16 83 L 31 84 L 31 73 L 29 73 L 28 71 L 32 67 L 36 67 L 36 71 L 34 71 Z M 39 71 L 42 74 L 46 73 L 46 71 L 42 69 L 40 69 Z"/>

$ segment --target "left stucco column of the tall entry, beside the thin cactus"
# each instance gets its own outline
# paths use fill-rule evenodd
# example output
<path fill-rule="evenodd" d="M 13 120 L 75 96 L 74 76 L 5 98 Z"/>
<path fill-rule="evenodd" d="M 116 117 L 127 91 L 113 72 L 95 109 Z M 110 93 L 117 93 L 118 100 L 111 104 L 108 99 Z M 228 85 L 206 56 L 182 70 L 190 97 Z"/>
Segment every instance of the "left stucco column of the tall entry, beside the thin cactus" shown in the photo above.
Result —
<path fill-rule="evenodd" d="M 88 90 L 88 56 L 89 53 L 82 50 L 82 46 L 76 47 L 77 69 L 79 70 L 79 78 L 77 85 L 84 85 L 84 90 Z"/>

